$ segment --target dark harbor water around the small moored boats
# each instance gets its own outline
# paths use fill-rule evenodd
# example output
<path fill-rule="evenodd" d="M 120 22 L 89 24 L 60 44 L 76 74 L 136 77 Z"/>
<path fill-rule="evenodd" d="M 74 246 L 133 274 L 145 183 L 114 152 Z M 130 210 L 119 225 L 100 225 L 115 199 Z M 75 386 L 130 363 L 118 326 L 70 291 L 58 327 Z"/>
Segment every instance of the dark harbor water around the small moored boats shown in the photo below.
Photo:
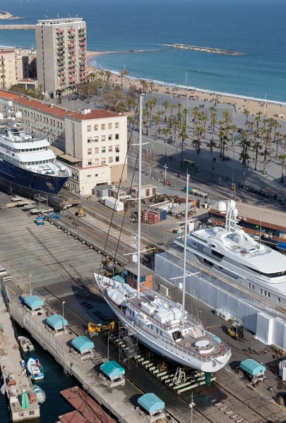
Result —
<path fill-rule="evenodd" d="M 47 399 L 44 404 L 40 405 L 40 419 L 34 419 L 35 423 L 54 423 L 58 421 L 59 415 L 64 415 L 66 412 L 71 412 L 73 407 L 62 398 L 60 391 L 71 388 L 71 386 L 79 385 L 78 381 L 73 376 L 64 374 L 63 368 L 54 360 L 54 357 L 47 353 L 40 345 L 34 341 L 30 333 L 22 329 L 16 324 L 16 331 L 18 336 L 27 336 L 32 344 L 35 346 L 35 351 L 31 353 L 32 357 L 38 358 L 44 368 L 44 379 L 37 381 L 46 393 Z M 28 355 L 23 356 L 24 360 L 28 359 Z M 8 401 L 6 396 L 0 393 L 0 422 L 10 423 L 8 412 Z"/>

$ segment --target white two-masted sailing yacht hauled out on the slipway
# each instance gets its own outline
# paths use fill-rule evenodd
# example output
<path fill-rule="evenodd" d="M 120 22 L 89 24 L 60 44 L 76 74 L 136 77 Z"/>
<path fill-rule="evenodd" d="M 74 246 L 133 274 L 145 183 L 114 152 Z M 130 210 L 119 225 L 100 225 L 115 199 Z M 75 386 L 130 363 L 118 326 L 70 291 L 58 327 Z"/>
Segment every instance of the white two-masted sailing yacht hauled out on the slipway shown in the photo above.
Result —
<path fill-rule="evenodd" d="M 139 120 L 139 168 L 138 192 L 141 192 L 142 162 L 142 108 L 140 98 Z M 186 221 L 189 197 L 189 176 L 186 190 Z M 141 216 L 141 201 L 138 201 L 138 216 Z M 187 224 L 185 222 L 185 235 Z M 172 362 L 198 369 L 203 372 L 217 372 L 231 357 L 230 348 L 220 338 L 205 331 L 200 321 L 185 310 L 186 267 L 184 266 L 182 305 L 172 302 L 159 293 L 144 286 L 141 290 L 141 219 L 138 219 L 137 289 L 126 283 L 114 281 L 100 274 L 94 274 L 103 298 L 117 318 L 126 327 L 135 331 L 138 341 L 155 353 Z M 185 255 L 186 256 L 186 253 Z M 184 257 L 186 263 L 186 257 Z"/>

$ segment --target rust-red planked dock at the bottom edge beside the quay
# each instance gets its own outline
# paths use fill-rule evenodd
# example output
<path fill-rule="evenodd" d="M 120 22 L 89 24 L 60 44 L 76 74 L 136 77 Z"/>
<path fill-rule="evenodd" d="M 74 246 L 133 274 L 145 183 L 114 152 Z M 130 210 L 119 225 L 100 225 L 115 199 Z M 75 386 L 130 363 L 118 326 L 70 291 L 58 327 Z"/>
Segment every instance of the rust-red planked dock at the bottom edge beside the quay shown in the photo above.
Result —
<path fill-rule="evenodd" d="M 68 401 L 68 403 L 81 413 L 83 419 L 79 419 L 78 423 L 117 423 L 116 420 L 112 419 L 112 417 L 110 417 L 97 403 L 95 403 L 93 398 L 91 398 L 81 388 L 78 388 L 78 386 L 73 386 L 73 388 L 61 391 L 61 395 Z M 73 422 L 75 421 L 77 422 L 76 419 L 73 420 Z M 71 420 L 61 419 L 61 422 L 68 423 L 71 422 Z"/>

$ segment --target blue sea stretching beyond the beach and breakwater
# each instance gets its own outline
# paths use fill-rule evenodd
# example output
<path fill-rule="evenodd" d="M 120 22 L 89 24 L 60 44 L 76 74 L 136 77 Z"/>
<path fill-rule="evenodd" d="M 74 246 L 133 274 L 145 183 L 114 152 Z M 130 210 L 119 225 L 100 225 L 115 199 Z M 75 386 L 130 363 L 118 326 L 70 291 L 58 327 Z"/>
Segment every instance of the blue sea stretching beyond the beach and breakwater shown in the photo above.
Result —
<path fill-rule="evenodd" d="M 80 16 L 88 25 L 88 49 L 154 50 L 160 43 L 191 44 L 244 52 L 225 56 L 201 51 L 107 54 L 97 64 L 124 66 L 136 78 L 188 85 L 286 102 L 285 0 L 1 0 L 23 20 Z M 35 47 L 33 31 L 0 31 L 0 45 Z"/>

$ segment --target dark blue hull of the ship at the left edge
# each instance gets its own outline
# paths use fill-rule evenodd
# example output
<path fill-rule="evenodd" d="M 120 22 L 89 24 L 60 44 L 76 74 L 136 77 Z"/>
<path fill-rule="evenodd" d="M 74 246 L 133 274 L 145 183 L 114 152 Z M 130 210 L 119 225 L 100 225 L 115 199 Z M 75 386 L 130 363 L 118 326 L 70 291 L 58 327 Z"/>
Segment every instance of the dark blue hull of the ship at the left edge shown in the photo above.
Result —
<path fill-rule="evenodd" d="M 68 176 L 42 175 L 0 159 L 0 188 L 9 194 L 34 199 L 35 194 L 54 197 L 68 180 Z"/>

